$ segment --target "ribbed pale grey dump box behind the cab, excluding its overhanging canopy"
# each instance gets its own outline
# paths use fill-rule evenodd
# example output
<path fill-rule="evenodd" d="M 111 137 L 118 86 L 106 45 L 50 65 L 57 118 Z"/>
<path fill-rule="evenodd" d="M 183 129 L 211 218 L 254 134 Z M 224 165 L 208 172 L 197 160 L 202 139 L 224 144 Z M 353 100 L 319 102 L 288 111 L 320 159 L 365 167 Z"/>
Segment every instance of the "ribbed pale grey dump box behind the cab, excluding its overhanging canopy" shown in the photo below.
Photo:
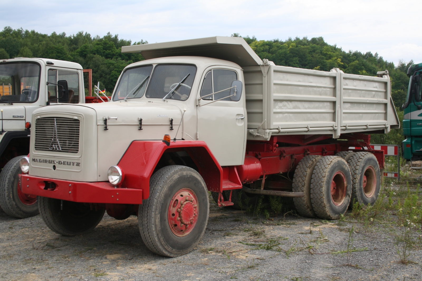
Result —
<path fill-rule="evenodd" d="M 243 67 L 243 73 L 248 128 L 260 128 L 249 130 L 250 136 L 333 134 L 336 138 L 399 127 L 387 73 L 372 77 L 271 62 Z"/>

